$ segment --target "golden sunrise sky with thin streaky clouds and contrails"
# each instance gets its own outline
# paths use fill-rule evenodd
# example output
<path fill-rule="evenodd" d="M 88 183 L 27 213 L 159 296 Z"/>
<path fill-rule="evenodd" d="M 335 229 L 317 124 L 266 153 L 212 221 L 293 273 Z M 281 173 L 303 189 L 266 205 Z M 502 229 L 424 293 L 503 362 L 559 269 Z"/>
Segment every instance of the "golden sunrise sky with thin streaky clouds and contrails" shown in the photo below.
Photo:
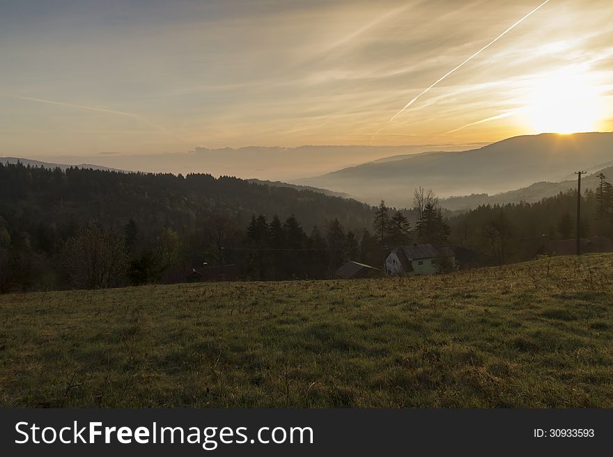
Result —
<path fill-rule="evenodd" d="M 612 130 L 613 4 L 542 3 L 0 0 L 0 156 L 169 168 L 224 148 L 421 152 Z M 249 151 L 245 177 L 323 170 L 300 149 L 293 173 Z M 386 155 L 346 148 L 324 168 Z M 243 156 L 227 157 L 215 172 Z"/>

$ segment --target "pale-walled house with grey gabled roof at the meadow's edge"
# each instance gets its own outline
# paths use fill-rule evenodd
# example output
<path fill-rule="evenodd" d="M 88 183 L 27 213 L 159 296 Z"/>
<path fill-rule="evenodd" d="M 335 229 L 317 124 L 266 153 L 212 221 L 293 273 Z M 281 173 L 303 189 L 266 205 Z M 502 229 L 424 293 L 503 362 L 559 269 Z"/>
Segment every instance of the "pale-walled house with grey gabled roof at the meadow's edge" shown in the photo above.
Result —
<path fill-rule="evenodd" d="M 398 246 L 385 259 L 389 275 L 431 275 L 442 268 L 456 268 L 456 257 L 451 248 L 435 248 L 431 244 Z"/>

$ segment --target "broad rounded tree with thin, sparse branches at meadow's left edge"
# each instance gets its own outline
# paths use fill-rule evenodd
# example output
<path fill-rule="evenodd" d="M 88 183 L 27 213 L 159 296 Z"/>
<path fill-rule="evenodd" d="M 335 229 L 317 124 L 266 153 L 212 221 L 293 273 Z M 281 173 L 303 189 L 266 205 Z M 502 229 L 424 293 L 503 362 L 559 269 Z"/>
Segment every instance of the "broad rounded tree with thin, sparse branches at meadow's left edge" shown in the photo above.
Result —
<path fill-rule="evenodd" d="M 130 261 L 123 237 L 95 222 L 66 241 L 62 257 L 72 284 L 86 289 L 118 284 Z"/>

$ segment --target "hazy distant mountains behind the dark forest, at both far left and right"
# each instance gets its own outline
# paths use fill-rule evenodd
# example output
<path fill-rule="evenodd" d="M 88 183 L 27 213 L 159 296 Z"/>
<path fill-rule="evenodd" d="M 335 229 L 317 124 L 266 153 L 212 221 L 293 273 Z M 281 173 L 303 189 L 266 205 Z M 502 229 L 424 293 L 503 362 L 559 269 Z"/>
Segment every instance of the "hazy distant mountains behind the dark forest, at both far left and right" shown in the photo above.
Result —
<path fill-rule="evenodd" d="M 124 171 L 91 163 L 67 165 L 0 157 L 2 163 L 17 161 L 24 165 L 59 167 L 62 170 L 76 166 Z M 461 152 L 398 154 L 327 175 L 300 179 L 293 184 L 263 179 L 247 181 L 354 198 L 370 205 L 377 205 L 383 199 L 387 205 L 394 207 L 411 207 L 413 190 L 424 186 L 442 197 L 442 207 L 463 211 L 479 205 L 505 204 L 520 198 L 534 202 L 574 189 L 576 179 L 573 177 L 552 182 L 572 175 L 575 170 L 598 164 L 603 164 L 603 172 L 613 179 L 612 161 L 613 133 L 541 134 L 517 136 Z M 600 170 L 591 170 L 591 174 L 584 177 L 584 189 L 596 188 L 596 175 Z"/>

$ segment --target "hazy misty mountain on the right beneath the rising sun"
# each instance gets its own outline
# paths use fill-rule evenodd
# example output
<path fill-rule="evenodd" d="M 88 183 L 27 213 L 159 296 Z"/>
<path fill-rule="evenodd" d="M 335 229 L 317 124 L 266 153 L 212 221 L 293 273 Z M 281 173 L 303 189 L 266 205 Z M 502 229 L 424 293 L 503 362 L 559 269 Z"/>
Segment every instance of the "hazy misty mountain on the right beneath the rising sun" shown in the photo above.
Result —
<path fill-rule="evenodd" d="M 554 181 L 575 170 L 612 160 L 613 133 L 541 134 L 516 136 L 461 152 L 386 157 L 326 175 L 299 179 L 296 184 L 348 193 L 373 205 L 383 199 L 389 205 L 408 207 L 412 205 L 413 190 L 418 186 L 433 189 L 442 197 L 491 195 L 509 189 L 529 192 L 528 186 L 538 186 L 538 183 Z M 488 200 L 489 195 L 481 197 Z M 511 195 L 496 198 L 509 197 Z M 472 200 L 476 200 L 474 195 Z M 467 200 L 461 203 L 448 199 L 446 203 L 463 206 Z"/>

